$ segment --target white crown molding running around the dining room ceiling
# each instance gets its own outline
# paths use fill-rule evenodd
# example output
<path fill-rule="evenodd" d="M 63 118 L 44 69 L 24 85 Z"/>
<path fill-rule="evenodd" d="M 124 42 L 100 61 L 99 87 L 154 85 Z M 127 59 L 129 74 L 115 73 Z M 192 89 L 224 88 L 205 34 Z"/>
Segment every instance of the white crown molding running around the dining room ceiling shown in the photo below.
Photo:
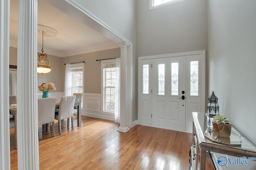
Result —
<path fill-rule="evenodd" d="M 18 41 L 10 39 L 10 47 L 17 48 Z M 83 47 L 83 48 L 75 49 L 75 50 L 68 51 L 68 52 L 54 51 L 54 50 L 49 50 L 49 49 L 44 48 L 44 53 L 46 53 L 48 55 L 57 56 L 57 57 L 70 57 L 70 56 L 74 56 L 74 55 L 92 53 L 92 52 L 96 52 L 96 51 L 115 49 L 115 48 L 120 48 L 120 45 L 118 45 L 117 43 L 112 41 L 110 43 L 92 45 L 90 47 Z M 40 52 L 41 47 L 38 47 L 37 51 Z"/>

